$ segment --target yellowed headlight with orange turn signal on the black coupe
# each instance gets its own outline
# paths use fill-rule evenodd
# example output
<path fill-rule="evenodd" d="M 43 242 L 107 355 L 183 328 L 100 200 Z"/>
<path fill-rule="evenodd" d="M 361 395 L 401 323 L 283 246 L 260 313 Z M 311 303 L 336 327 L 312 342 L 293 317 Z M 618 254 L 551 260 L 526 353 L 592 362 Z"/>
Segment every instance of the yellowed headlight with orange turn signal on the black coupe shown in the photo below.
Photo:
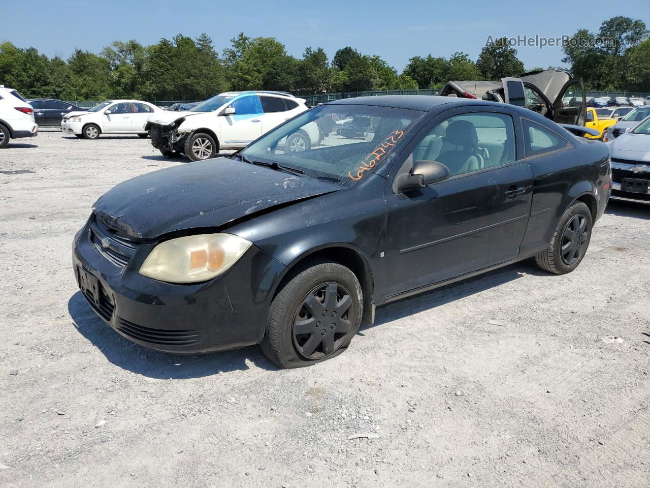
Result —
<path fill-rule="evenodd" d="M 231 234 L 201 234 L 164 241 L 153 248 L 140 275 L 170 283 L 194 283 L 224 273 L 251 243 Z"/>

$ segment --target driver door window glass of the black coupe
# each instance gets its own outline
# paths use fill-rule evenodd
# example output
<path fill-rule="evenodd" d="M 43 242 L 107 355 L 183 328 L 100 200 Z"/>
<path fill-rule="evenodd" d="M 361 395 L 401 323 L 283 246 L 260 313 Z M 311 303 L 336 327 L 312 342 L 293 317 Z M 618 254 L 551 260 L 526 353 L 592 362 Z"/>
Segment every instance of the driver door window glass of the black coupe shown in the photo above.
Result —
<path fill-rule="evenodd" d="M 515 161 L 515 131 L 510 115 L 475 112 L 437 124 L 407 161 L 439 161 L 451 176 Z"/>

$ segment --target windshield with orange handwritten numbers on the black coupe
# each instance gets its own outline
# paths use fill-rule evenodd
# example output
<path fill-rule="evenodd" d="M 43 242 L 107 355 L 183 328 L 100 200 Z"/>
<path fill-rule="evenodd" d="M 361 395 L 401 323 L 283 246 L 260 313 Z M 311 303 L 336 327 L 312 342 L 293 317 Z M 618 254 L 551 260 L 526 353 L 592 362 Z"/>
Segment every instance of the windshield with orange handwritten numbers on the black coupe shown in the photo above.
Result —
<path fill-rule="evenodd" d="M 322 181 L 352 186 L 398 154 L 424 112 L 371 105 L 320 105 L 241 151 Z"/>

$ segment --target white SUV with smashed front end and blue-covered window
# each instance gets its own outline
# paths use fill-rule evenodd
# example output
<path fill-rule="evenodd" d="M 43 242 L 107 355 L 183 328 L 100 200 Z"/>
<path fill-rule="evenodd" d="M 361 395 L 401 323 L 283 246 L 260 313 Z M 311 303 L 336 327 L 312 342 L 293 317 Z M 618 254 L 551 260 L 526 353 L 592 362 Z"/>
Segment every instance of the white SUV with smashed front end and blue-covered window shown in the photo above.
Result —
<path fill-rule="evenodd" d="M 214 157 L 222 149 L 240 149 L 307 110 L 305 100 L 286 92 L 220 93 L 188 112 L 161 112 L 149 116 L 151 144 L 164 156 L 182 153 L 192 161 Z M 296 133 L 287 141 L 300 150 L 317 144 L 313 133 Z"/>

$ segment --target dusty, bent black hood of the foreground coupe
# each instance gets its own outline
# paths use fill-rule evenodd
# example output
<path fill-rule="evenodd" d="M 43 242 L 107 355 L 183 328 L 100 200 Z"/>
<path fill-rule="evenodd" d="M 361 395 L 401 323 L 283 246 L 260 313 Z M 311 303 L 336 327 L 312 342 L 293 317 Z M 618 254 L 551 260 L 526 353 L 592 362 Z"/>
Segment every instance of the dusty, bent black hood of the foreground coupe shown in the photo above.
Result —
<path fill-rule="evenodd" d="M 110 189 L 94 213 L 110 228 L 153 239 L 337 191 L 313 178 L 218 157 L 137 176 Z"/>

